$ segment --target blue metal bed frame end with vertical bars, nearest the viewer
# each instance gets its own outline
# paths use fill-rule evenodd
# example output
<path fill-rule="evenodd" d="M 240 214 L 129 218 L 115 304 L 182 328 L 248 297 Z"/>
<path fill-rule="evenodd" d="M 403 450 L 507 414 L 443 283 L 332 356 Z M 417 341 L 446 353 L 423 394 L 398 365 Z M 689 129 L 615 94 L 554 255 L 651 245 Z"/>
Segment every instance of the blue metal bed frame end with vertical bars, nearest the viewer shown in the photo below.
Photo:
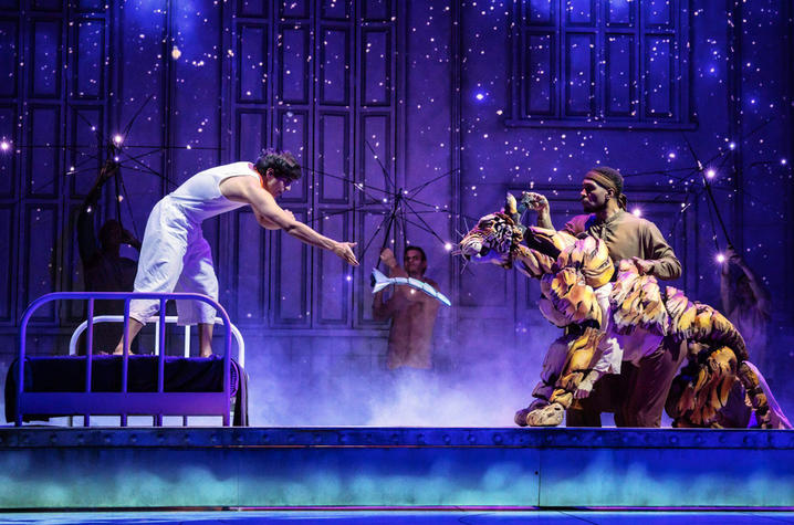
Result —
<path fill-rule="evenodd" d="M 166 301 L 189 300 L 201 301 L 217 309 L 224 327 L 223 353 L 223 390 L 218 392 L 166 392 L 165 351 L 160 351 L 157 364 L 157 391 L 129 392 L 127 391 L 129 365 L 129 302 L 138 298 L 159 300 L 159 323 L 157 326 L 157 340 L 160 349 L 165 348 L 166 337 Z M 84 301 L 88 302 L 86 359 L 85 359 L 85 391 L 84 392 L 27 392 L 24 391 L 24 361 L 27 353 L 28 323 L 33 313 L 42 305 L 53 301 Z M 96 300 L 124 300 L 124 355 L 122 356 L 122 388 L 118 392 L 93 392 L 92 361 L 94 343 L 94 302 Z M 127 426 L 127 416 L 154 416 L 155 426 L 163 426 L 164 416 L 221 416 L 223 426 L 230 426 L 229 412 L 231 410 L 231 336 L 232 328 L 229 315 L 216 301 L 201 294 L 192 293 L 132 293 L 132 292 L 55 292 L 43 295 L 33 301 L 22 315 L 19 332 L 19 359 L 17 367 L 17 427 L 22 426 L 25 413 L 48 414 L 82 414 L 84 426 L 90 424 L 91 416 L 121 416 L 122 427 Z"/>

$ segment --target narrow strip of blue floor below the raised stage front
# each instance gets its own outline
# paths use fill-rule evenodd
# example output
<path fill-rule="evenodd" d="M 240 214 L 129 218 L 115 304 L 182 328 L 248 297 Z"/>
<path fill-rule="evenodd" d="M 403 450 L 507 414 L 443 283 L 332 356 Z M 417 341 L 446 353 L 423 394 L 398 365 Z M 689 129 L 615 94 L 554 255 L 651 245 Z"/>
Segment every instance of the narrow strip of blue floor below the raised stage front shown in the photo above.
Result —
<path fill-rule="evenodd" d="M 644 525 L 693 524 L 740 525 L 794 523 L 792 512 L 751 511 L 223 511 L 223 512 L 106 512 L 0 514 L 8 524 L 249 524 L 249 523 L 345 523 L 345 524 L 519 524 L 535 525 Z"/>

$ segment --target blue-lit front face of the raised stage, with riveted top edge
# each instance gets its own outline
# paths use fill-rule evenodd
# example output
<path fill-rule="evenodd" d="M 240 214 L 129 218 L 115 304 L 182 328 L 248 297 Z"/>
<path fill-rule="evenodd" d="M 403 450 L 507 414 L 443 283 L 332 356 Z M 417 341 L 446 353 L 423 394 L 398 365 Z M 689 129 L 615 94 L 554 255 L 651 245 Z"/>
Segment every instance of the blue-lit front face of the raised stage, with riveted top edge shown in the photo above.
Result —
<path fill-rule="evenodd" d="M 794 432 L 0 429 L 11 510 L 787 510 Z"/>

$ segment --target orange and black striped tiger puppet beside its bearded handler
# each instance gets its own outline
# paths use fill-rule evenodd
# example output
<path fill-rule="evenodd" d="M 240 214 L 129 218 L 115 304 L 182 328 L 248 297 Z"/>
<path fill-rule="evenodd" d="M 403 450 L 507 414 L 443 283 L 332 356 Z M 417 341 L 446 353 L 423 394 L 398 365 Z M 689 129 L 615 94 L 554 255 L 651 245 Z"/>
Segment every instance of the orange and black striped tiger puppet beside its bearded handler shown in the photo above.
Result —
<path fill-rule="evenodd" d="M 561 424 L 565 410 L 588 397 L 600 377 L 620 372 L 624 358 L 652 351 L 672 336 L 688 348 L 666 403 L 673 427 L 725 426 L 722 412 L 735 389 L 755 427 L 791 428 L 728 318 L 672 286 L 662 291 L 631 261 L 616 269 L 599 239 L 522 225 L 530 199 L 524 192 L 519 204 L 508 193 L 504 209 L 482 217 L 455 252 L 540 280 L 541 313 L 565 328 L 546 353 L 535 401 L 515 413 L 516 424 Z"/>

